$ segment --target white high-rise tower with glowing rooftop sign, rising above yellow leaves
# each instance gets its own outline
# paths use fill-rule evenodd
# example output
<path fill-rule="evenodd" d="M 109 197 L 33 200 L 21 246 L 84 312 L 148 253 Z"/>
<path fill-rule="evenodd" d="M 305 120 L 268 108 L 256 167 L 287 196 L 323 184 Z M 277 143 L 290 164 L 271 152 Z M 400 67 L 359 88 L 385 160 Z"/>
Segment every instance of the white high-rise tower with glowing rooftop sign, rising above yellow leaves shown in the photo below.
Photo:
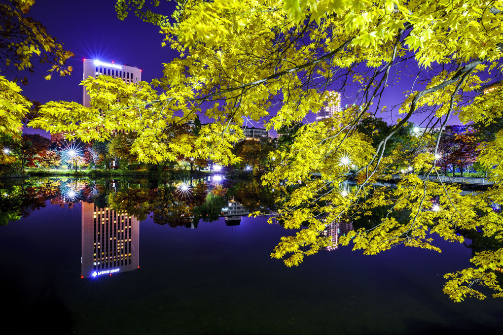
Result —
<path fill-rule="evenodd" d="M 96 78 L 99 75 L 108 75 L 114 78 L 122 78 L 125 83 L 134 84 L 141 80 L 141 70 L 130 66 L 116 63 L 103 62 L 97 59 L 84 59 L 83 78 Z M 90 96 L 86 88 L 82 89 L 82 104 L 89 107 Z"/>

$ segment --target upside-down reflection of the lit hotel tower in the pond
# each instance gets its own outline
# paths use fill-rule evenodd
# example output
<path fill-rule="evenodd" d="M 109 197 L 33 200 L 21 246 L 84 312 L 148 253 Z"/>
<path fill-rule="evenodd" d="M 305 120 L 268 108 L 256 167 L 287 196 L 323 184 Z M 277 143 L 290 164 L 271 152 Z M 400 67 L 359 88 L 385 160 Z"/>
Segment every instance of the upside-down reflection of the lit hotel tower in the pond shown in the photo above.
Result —
<path fill-rule="evenodd" d="M 82 202 L 82 277 L 97 277 L 139 267 L 138 219 Z"/>

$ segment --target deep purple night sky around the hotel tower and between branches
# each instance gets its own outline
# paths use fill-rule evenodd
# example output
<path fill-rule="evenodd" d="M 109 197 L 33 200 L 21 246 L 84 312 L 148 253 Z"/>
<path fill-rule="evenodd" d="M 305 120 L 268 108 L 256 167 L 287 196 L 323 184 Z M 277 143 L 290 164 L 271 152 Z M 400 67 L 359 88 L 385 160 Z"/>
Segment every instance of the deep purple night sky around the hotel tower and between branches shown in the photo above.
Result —
<path fill-rule="evenodd" d="M 175 2 L 161 1 L 158 12 L 169 14 L 173 12 Z M 29 16 L 40 21 L 49 34 L 65 44 L 67 50 L 75 57 L 69 59 L 67 65 L 73 67 L 71 76 L 59 77 L 53 75 L 46 81 L 47 64 L 36 66 L 34 75 L 27 75 L 29 84 L 21 85 L 23 94 L 29 99 L 45 103 L 51 100 L 75 101 L 82 103 L 82 87 L 78 84 L 82 80 L 82 60 L 84 58 L 100 59 L 102 61 L 119 64 L 130 64 L 142 69 L 142 80 L 151 81 L 162 75 L 162 63 L 170 62 L 177 53 L 169 46 L 161 47 L 163 36 L 159 29 L 152 24 L 142 22 L 129 14 L 125 21 L 117 19 L 114 1 L 88 0 L 82 2 L 68 2 L 64 0 L 38 0 L 32 7 Z M 11 77 L 12 79 L 12 77 Z M 402 78 L 403 80 L 403 78 Z M 411 83 L 412 79 L 410 79 Z M 384 96 L 384 104 L 392 105 L 403 99 L 403 91 L 410 89 L 407 80 L 400 85 L 388 87 Z M 350 88 L 351 89 L 351 88 Z M 346 92 L 346 94 L 348 91 Z M 342 105 L 353 103 L 346 97 Z M 388 124 L 396 122 L 396 114 L 377 115 Z M 306 121 L 315 120 L 310 113 Z M 415 123 L 420 118 L 412 119 Z M 450 122 L 458 123 L 457 120 Z M 249 125 L 249 124 L 248 124 Z M 262 127 L 255 124 L 256 127 Z M 25 133 L 46 134 L 40 130 L 25 129 Z M 275 133 L 275 132 L 274 132 Z"/>

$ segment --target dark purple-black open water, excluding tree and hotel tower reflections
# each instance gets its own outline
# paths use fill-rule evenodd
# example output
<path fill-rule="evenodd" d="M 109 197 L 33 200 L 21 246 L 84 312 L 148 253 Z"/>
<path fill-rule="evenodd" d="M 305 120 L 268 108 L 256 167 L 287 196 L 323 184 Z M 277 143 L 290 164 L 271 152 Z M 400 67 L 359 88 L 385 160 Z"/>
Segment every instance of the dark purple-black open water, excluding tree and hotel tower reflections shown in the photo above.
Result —
<path fill-rule="evenodd" d="M 139 222 L 139 268 L 82 274 L 82 203 L 46 201 L 0 227 L 3 334 L 499 333 L 503 300 L 454 303 L 443 274 L 471 249 L 397 247 L 377 256 L 321 251 L 287 268 L 270 253 L 285 234 L 266 218 Z M 227 222 L 228 224 L 229 222 Z M 488 292 L 489 293 L 489 292 Z"/>

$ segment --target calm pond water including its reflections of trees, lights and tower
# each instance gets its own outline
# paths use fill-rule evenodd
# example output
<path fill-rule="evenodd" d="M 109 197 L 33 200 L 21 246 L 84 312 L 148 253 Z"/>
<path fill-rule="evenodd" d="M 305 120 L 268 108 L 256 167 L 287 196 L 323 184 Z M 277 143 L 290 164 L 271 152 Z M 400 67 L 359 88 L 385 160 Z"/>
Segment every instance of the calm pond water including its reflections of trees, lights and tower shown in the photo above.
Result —
<path fill-rule="evenodd" d="M 287 268 L 270 253 L 292 232 L 235 215 L 272 206 L 272 190 L 251 181 L 186 183 L 2 184 L 2 332 L 420 334 L 503 326 L 503 300 L 453 303 L 442 293 L 442 275 L 469 266 L 464 245 L 437 241 L 441 254 L 397 247 L 377 256 L 341 247 Z"/>

